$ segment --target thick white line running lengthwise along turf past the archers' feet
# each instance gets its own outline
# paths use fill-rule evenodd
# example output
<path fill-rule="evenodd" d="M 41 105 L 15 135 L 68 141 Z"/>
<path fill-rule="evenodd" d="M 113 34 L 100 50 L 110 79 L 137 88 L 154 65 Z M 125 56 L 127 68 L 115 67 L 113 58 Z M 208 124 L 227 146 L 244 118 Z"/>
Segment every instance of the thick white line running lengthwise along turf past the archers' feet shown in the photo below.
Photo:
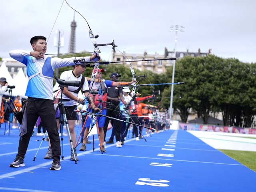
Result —
<path fill-rule="evenodd" d="M 133 141 L 133 140 L 135 140 L 135 138 L 130 139 L 130 140 L 126 140 L 126 142 L 130 142 L 130 141 Z M 106 146 L 105 148 L 109 148 L 109 147 L 112 147 L 112 146 L 116 146 L 116 144 L 108 145 L 108 146 Z M 37 150 L 37 149 L 36 149 L 36 150 Z M 96 151 L 96 150 L 100 150 L 100 148 L 95 148 L 95 151 Z M 89 150 L 89 151 L 86 151 L 86 152 L 78 153 L 77 156 L 81 156 L 81 155 L 84 155 L 84 154 L 89 154 L 90 152 L 93 152 L 93 150 Z M 102 155 L 102 154 L 101 154 L 101 155 Z M 104 154 L 104 155 L 105 155 L 105 154 Z M 67 160 L 67 159 L 70 159 L 70 156 L 64 157 L 64 160 Z M 62 160 L 60 160 L 60 161 L 62 161 Z M 32 171 L 32 170 L 35 170 L 35 169 L 38 169 L 38 168 L 42 168 L 42 167 L 44 167 L 44 166 L 48 166 L 48 165 L 51 165 L 51 164 L 52 164 L 52 162 L 46 162 L 46 163 L 38 164 L 38 165 L 36 165 L 36 166 L 24 168 L 24 169 L 20 169 L 20 168 L 11 168 L 11 169 L 20 169 L 20 170 L 14 171 L 14 172 L 10 172 L 10 173 L 6 173 L 6 174 L 2 174 L 2 175 L 0 175 L 0 179 L 4 179 L 4 178 L 11 177 L 11 176 L 14 176 L 14 175 L 22 174 L 22 173 L 24 173 L 24 172 Z"/>

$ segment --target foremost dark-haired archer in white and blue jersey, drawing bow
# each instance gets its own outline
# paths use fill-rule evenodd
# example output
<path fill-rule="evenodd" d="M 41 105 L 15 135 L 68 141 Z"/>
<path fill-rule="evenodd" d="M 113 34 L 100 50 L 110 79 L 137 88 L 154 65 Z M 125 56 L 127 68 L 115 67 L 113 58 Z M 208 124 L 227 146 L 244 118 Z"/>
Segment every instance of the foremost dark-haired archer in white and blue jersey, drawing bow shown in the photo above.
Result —
<path fill-rule="evenodd" d="M 30 137 L 38 116 L 40 116 L 50 138 L 53 162 L 51 170 L 60 170 L 60 138 L 55 120 L 53 104 L 53 75 L 59 67 L 74 65 L 73 58 L 51 58 L 45 55 L 47 42 L 44 36 L 34 36 L 30 39 L 33 51 L 13 50 L 10 56 L 22 62 L 27 67 L 28 86 L 26 96 L 28 102 L 24 110 L 20 128 L 20 141 L 18 154 L 10 167 L 25 166 L 24 157 L 28 148 Z M 85 61 L 93 60 L 96 55 L 85 57 Z"/>

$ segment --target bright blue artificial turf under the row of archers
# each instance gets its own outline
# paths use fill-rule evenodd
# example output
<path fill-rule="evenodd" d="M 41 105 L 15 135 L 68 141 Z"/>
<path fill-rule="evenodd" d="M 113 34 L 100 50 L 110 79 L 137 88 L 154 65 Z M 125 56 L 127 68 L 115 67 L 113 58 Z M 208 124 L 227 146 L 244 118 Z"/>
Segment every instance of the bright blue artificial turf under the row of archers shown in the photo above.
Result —
<path fill-rule="evenodd" d="M 92 144 L 87 144 L 86 152 L 78 151 L 78 164 L 69 160 L 70 146 L 65 137 L 65 160 L 61 161 L 60 171 L 50 171 L 52 160 L 43 158 L 48 148 L 46 141 L 43 142 L 36 161 L 32 161 L 42 139 L 36 136 L 30 139 L 30 151 L 24 159 L 26 166 L 9 168 L 18 148 L 18 130 L 12 130 L 10 136 L 3 133 L 2 125 L 0 191 L 256 191 L 254 171 L 183 130 L 154 134 L 146 138 L 147 142 L 142 139 L 135 141 L 129 136 L 122 148 L 116 148 L 115 144 L 107 145 L 107 152 L 104 154 L 99 152 L 99 142 L 95 136 L 96 150 L 93 152 Z M 108 131 L 107 137 L 110 133 Z M 92 136 L 90 140 L 92 141 Z"/>

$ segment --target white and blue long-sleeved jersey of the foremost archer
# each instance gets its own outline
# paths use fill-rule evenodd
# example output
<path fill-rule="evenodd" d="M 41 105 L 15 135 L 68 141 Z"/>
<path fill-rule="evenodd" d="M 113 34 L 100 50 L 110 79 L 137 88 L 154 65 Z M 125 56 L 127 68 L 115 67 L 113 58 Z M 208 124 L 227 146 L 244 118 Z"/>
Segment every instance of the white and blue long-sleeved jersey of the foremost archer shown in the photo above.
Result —
<path fill-rule="evenodd" d="M 10 56 L 27 66 L 29 78 L 25 96 L 53 100 L 53 75 L 56 68 L 74 65 L 72 58 L 51 58 L 45 55 L 44 59 L 30 56 L 30 51 L 13 50 Z M 90 57 L 85 57 L 90 61 Z"/>

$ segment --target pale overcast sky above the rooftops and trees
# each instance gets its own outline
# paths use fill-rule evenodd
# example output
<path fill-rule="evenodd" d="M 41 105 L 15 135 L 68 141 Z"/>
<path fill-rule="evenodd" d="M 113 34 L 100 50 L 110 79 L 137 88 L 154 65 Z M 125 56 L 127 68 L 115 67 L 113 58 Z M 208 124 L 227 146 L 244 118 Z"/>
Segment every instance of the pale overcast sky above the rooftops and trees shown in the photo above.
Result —
<path fill-rule="evenodd" d="M 3 0 L 1 1 L 0 57 L 9 57 L 13 49 L 31 50 L 30 38 L 48 38 L 63 0 Z M 223 58 L 238 58 L 256 62 L 256 1 L 255 0 L 68 0 L 88 21 L 97 43 L 114 39 L 118 49 L 126 53 L 164 54 L 164 47 L 174 48 L 171 25 L 182 25 L 178 33 L 177 51 L 208 52 Z M 48 41 L 48 54 L 53 46 L 55 30 L 64 31 L 67 53 L 70 24 L 74 11 L 63 4 Z M 92 51 L 88 26 L 76 14 L 76 51 Z M 108 60 L 110 47 L 101 48 Z"/>

